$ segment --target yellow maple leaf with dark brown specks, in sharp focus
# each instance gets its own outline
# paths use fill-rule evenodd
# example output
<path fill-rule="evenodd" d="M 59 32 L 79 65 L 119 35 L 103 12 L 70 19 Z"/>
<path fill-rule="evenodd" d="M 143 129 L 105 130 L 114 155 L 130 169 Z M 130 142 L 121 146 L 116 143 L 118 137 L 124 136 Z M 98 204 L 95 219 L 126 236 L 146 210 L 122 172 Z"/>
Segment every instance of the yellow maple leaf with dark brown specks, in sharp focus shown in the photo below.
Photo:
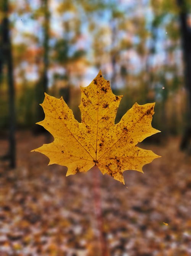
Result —
<path fill-rule="evenodd" d="M 48 130 L 54 141 L 32 151 L 49 157 L 49 165 L 68 167 L 66 176 L 97 165 L 103 174 L 124 184 L 125 170 L 142 172 L 143 165 L 159 157 L 136 145 L 160 131 L 151 126 L 155 103 L 135 103 L 115 124 L 122 97 L 113 94 L 110 82 L 99 71 L 89 86 L 81 88 L 81 122 L 78 122 L 62 97 L 57 99 L 45 93 L 40 104 L 45 119 L 37 124 Z"/>

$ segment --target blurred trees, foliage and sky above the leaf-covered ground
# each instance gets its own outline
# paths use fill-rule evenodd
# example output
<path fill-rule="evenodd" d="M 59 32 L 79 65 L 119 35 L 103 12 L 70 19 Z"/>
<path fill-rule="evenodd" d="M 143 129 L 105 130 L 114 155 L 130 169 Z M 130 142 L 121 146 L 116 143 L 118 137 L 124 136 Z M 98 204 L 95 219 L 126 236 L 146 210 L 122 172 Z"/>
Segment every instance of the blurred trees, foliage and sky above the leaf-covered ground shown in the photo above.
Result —
<path fill-rule="evenodd" d="M 117 122 L 134 102 L 156 102 L 154 127 L 163 135 L 183 133 L 190 117 L 191 82 L 185 86 L 191 73 L 190 1 L 2 0 L 0 5 L 0 130 L 7 129 L 14 111 L 17 128 L 41 120 L 44 92 L 63 95 L 80 120 L 79 86 L 101 69 L 113 92 L 124 95 Z"/>

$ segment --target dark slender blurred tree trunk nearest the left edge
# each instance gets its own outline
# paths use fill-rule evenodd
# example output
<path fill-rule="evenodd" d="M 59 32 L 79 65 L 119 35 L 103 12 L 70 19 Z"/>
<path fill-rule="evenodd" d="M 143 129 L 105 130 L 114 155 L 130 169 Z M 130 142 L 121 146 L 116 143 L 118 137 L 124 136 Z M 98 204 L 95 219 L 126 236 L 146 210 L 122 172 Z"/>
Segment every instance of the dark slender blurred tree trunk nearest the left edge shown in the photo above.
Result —
<path fill-rule="evenodd" d="M 2 20 L 2 64 L 7 66 L 7 83 L 9 94 L 9 152 L 10 167 L 15 168 L 15 88 L 13 79 L 13 58 L 11 51 L 11 39 L 8 20 L 8 0 L 3 0 L 3 14 Z M 3 66 L 2 65 L 2 66 Z"/>

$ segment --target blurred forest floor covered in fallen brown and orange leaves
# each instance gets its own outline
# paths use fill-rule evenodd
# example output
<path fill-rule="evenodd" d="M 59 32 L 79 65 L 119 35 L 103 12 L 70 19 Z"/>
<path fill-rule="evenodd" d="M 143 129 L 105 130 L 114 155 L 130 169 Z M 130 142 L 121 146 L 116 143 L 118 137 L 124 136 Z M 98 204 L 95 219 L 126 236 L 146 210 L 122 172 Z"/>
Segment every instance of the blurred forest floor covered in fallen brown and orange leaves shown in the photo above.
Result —
<path fill-rule="evenodd" d="M 125 186 L 95 168 L 65 177 L 65 167 L 47 166 L 47 157 L 30 152 L 47 142 L 44 135 L 20 131 L 16 140 L 17 167 L 0 164 L 0 256 L 106 256 L 98 242 L 95 173 L 107 255 L 191 255 L 191 158 L 179 151 L 178 137 L 142 144 L 162 158 L 144 174 L 124 172 Z M 7 147 L 1 139 L 0 155 Z"/>

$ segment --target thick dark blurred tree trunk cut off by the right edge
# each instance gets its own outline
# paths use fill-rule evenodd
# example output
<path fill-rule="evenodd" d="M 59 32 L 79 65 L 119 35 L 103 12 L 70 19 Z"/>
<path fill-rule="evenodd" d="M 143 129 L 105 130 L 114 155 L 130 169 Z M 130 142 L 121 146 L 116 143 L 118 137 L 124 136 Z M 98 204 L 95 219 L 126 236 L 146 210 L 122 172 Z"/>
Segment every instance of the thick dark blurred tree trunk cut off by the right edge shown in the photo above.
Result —
<path fill-rule="evenodd" d="M 191 25 L 188 23 L 188 13 L 185 0 L 177 0 L 180 8 L 180 30 L 182 38 L 183 59 L 185 65 L 185 83 L 188 91 L 187 127 L 181 142 L 181 149 L 188 149 L 191 145 Z"/>

